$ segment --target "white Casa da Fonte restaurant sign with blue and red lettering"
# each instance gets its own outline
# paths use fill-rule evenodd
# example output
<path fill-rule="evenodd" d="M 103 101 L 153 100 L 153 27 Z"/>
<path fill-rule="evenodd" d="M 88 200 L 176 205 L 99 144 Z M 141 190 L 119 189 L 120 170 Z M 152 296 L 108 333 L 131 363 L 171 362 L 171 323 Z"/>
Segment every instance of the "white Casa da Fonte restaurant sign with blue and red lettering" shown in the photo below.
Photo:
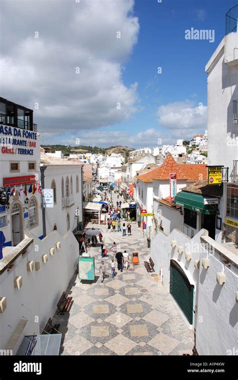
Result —
<path fill-rule="evenodd" d="M 36 140 L 36 132 L 0 125 L 0 145 L 3 154 L 32 156 L 33 148 L 36 148 Z"/>

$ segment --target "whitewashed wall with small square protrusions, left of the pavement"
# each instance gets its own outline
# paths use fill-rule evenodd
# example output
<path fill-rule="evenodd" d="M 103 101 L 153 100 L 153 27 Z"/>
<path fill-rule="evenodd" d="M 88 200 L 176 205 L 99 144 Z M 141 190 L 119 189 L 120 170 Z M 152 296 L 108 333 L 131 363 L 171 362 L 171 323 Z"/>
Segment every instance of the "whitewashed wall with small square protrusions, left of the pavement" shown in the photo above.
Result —
<path fill-rule="evenodd" d="M 33 236 L 29 234 L 29 237 Z M 61 242 L 60 249 L 56 248 L 57 241 Z M 54 256 L 49 254 L 51 247 L 55 248 Z M 42 262 L 44 254 L 48 255 L 47 263 Z M 76 269 L 77 258 L 78 242 L 72 232 L 61 236 L 58 231 L 54 231 L 43 240 L 34 237 L 27 253 L 14 262 L 14 268 L 0 276 L 0 297 L 7 298 L 7 309 L 0 314 L 1 349 L 5 348 L 13 329 L 23 317 L 29 320 L 25 335 L 41 332 L 48 319 L 53 317 L 61 294 L 67 289 Z M 29 261 L 39 262 L 40 270 L 28 272 Z M 17 276 L 22 276 L 23 281 L 19 290 L 14 288 L 14 278 Z M 35 323 L 36 316 L 39 316 L 39 323 Z M 19 339 L 18 346 L 23 337 Z"/>

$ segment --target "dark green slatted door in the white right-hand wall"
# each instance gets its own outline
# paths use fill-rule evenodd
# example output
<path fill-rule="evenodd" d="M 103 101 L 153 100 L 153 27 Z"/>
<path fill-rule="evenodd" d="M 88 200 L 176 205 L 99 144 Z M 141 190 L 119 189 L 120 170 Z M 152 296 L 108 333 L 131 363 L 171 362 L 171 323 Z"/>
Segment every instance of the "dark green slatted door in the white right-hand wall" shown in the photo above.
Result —
<path fill-rule="evenodd" d="M 189 283 L 183 270 L 172 260 L 170 265 L 170 293 L 191 325 L 193 320 L 193 289 L 193 285 Z"/>

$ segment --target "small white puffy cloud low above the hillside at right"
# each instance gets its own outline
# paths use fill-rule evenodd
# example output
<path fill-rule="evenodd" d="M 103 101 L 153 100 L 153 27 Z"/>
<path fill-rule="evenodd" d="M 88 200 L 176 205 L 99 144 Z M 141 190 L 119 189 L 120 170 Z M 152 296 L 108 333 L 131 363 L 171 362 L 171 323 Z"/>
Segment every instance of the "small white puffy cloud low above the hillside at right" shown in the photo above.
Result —
<path fill-rule="evenodd" d="M 195 105 L 190 100 L 183 102 L 173 102 L 167 105 L 161 105 L 157 110 L 158 124 L 171 130 L 205 130 L 207 124 L 207 107 L 199 104 Z"/>

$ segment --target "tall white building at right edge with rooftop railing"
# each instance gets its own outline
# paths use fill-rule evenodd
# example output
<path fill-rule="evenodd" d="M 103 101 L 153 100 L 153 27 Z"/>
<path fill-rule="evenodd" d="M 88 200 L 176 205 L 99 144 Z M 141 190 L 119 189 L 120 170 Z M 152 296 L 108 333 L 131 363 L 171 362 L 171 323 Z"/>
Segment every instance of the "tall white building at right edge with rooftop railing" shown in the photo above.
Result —
<path fill-rule="evenodd" d="M 238 46 L 237 33 L 229 30 L 229 20 L 236 20 L 238 6 L 227 15 L 227 34 L 206 65 L 208 88 L 208 165 L 228 168 L 219 204 L 222 228 L 216 230 L 217 241 L 238 244 Z M 211 185 L 212 186 L 212 185 Z"/>

